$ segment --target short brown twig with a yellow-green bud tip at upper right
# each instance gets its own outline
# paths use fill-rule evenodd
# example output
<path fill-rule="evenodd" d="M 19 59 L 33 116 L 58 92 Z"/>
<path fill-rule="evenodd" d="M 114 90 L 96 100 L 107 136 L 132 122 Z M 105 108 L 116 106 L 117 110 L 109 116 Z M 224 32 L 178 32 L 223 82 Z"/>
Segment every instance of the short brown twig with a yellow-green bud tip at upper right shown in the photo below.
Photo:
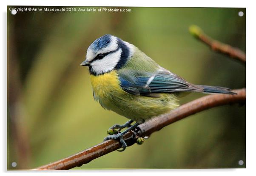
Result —
<path fill-rule="evenodd" d="M 225 55 L 230 56 L 231 58 L 234 58 L 236 60 L 241 61 L 242 63 L 245 63 L 245 53 L 242 52 L 240 49 L 231 47 L 228 44 L 221 43 L 219 41 L 216 41 L 209 36 L 207 36 L 200 27 L 196 25 L 191 25 L 189 27 L 190 33 L 198 38 L 200 41 L 204 42 L 208 46 L 211 47 L 213 51 L 221 52 Z"/>

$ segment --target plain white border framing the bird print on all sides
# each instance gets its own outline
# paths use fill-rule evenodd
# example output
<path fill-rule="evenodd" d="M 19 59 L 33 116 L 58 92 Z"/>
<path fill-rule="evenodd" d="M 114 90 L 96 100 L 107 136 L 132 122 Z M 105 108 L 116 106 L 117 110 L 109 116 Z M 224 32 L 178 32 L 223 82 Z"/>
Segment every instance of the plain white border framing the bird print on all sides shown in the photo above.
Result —
<path fill-rule="evenodd" d="M 206 3 L 207 2 L 207 3 Z M 156 173 L 160 173 L 161 175 L 190 175 L 190 176 L 216 176 L 216 174 L 225 174 L 225 175 L 232 175 L 232 176 L 241 176 L 241 175 L 252 175 L 255 174 L 255 161 L 256 161 L 256 152 L 255 152 L 255 122 L 256 122 L 256 115 L 253 111 L 254 104 L 255 104 L 255 60 L 256 54 L 254 53 L 255 50 L 255 17 L 256 17 L 256 10 L 255 5 L 253 5 L 253 1 L 245 1 L 245 0 L 214 0 L 214 1 L 205 1 L 205 0 L 179 0 L 179 1 L 167 1 L 167 0 L 69 0 L 69 1 L 60 1 L 60 0 L 42 0 L 42 1 L 35 1 L 35 0 L 9 0 L 8 2 L 1 1 L 1 71 L 0 71 L 0 78 L 2 85 L 0 86 L 0 96 L 1 96 L 1 112 L 2 112 L 2 129 L 0 130 L 1 133 L 1 142 L 0 145 L 0 170 L 3 172 L 3 175 L 12 175 L 12 174 L 19 174 L 19 175 L 41 175 L 44 174 L 43 172 L 28 172 L 22 171 L 20 173 L 14 171 L 6 172 L 6 5 L 60 5 L 60 6 L 144 6 L 144 7 L 246 7 L 246 55 L 247 55 L 247 68 L 246 68 L 246 87 L 247 87 L 247 99 L 246 99 L 246 169 L 194 169 L 194 170 L 81 170 L 75 172 L 49 172 L 47 174 L 57 174 L 61 176 L 65 176 L 68 174 L 72 175 L 81 175 L 81 172 L 89 173 L 90 175 L 102 175 L 104 176 L 113 176 L 122 174 L 122 176 L 131 176 L 134 174 L 149 174 L 155 175 Z M 248 63 L 249 62 L 249 63 Z M 85 174 L 86 174 L 85 173 Z"/>

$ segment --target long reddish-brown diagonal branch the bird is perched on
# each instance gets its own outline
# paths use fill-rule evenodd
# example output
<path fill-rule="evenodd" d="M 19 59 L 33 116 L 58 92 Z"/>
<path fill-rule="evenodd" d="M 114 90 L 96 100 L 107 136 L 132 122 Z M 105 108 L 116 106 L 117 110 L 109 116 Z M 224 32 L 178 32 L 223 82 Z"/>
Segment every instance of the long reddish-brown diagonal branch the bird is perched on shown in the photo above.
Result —
<path fill-rule="evenodd" d="M 236 92 L 237 94 L 212 94 L 204 96 L 192 102 L 188 102 L 187 104 L 183 104 L 179 108 L 171 111 L 168 114 L 152 118 L 151 120 L 146 121 L 144 124 L 139 125 L 138 128 L 134 131 L 125 134 L 125 142 L 128 144 L 128 146 L 131 146 L 136 143 L 136 135 L 140 137 L 149 136 L 153 132 L 162 129 L 169 124 L 172 124 L 185 117 L 201 112 L 203 110 L 207 110 L 212 107 L 217 107 L 225 104 L 245 103 L 245 88 L 236 89 L 233 90 L 233 92 Z M 91 148 L 80 151 L 77 154 L 71 155 L 70 157 L 66 157 L 48 165 L 41 166 L 34 170 L 71 169 L 86 164 L 93 159 L 101 157 L 119 148 L 121 148 L 121 145 L 118 140 L 108 140 Z"/>

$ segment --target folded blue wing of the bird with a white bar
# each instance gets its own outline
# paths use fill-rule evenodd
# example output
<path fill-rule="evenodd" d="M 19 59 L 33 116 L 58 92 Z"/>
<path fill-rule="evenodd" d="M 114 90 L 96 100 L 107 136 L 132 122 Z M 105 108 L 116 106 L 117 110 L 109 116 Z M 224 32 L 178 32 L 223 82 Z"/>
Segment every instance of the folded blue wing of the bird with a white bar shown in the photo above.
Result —
<path fill-rule="evenodd" d="M 119 80 L 122 89 L 134 95 L 155 96 L 156 93 L 204 91 L 201 86 L 188 83 L 168 71 L 159 71 L 156 74 L 144 73 L 143 76 L 119 74 Z"/>

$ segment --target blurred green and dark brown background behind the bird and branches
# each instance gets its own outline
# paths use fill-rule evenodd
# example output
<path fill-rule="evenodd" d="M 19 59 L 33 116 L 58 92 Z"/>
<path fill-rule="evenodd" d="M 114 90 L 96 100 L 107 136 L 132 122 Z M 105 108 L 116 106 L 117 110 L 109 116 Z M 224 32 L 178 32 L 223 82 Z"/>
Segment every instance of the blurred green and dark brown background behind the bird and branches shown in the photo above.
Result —
<path fill-rule="evenodd" d="M 198 25 L 212 38 L 245 51 L 245 8 L 12 15 L 9 7 L 20 6 L 7 7 L 9 170 L 35 168 L 94 146 L 110 126 L 127 121 L 94 102 L 88 69 L 80 66 L 88 46 L 104 34 L 136 45 L 194 84 L 245 87 L 244 65 L 213 52 L 188 32 L 190 25 Z M 181 103 L 204 95 L 191 93 Z M 75 169 L 104 168 L 245 168 L 245 105 L 192 115 L 155 132 L 142 146 Z"/>

